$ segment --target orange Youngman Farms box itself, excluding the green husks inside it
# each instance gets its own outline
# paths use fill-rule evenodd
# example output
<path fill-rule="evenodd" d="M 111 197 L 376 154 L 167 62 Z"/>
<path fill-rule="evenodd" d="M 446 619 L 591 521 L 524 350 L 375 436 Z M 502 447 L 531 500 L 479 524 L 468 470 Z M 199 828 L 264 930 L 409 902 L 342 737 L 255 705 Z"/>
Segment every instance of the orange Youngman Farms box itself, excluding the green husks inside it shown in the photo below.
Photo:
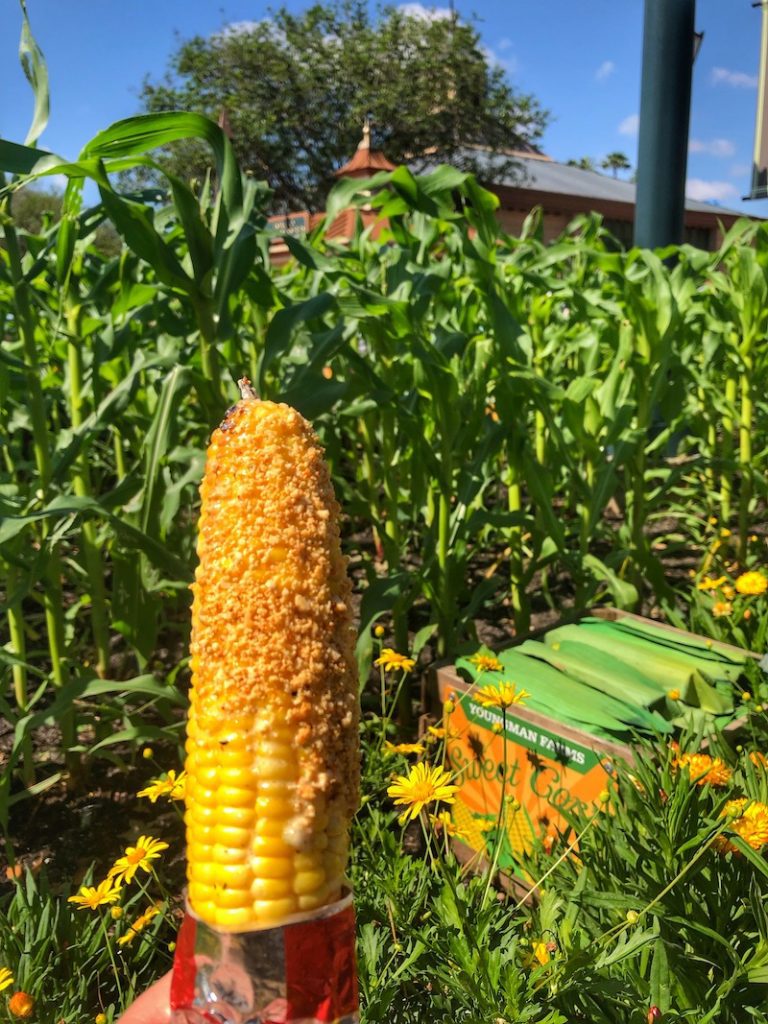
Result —
<path fill-rule="evenodd" d="M 615 609 L 592 614 L 613 622 L 650 623 Z M 673 627 L 664 629 L 677 638 L 692 636 Z M 522 643 L 521 639 L 512 649 Z M 713 646 L 757 657 L 729 645 Z M 493 681 L 487 679 L 487 683 Z M 612 762 L 632 762 L 631 740 L 595 735 L 572 722 L 559 721 L 555 713 L 543 714 L 525 705 L 513 705 L 503 715 L 473 697 L 476 686 L 463 679 L 455 666 L 438 669 L 436 683 L 440 701 L 454 701 L 453 713 L 445 717 L 445 762 L 460 785 L 453 808 L 454 821 L 463 835 L 463 841 L 455 843 L 457 853 L 479 867 L 500 842 L 500 869 L 521 883 L 517 855 L 537 842 L 554 845 L 558 834 L 567 830 L 563 812 L 586 810 L 600 802 L 610 785 Z M 515 675 L 514 683 L 526 687 L 522 675 Z M 503 795 L 507 799 L 500 822 Z"/>

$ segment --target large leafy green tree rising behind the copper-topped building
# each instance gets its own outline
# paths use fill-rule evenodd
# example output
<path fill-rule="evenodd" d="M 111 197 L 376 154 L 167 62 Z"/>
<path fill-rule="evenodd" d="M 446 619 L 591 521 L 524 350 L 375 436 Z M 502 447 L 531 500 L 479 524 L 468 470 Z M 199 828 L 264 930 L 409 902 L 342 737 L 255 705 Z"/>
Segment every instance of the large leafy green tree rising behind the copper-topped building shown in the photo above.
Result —
<path fill-rule="evenodd" d="M 457 16 L 332 0 L 300 14 L 281 8 L 260 22 L 196 37 L 172 56 L 163 82 L 145 80 L 150 111 L 226 112 L 242 165 L 265 179 L 280 210 L 322 209 L 334 171 L 354 153 L 370 116 L 374 144 L 416 171 L 452 163 L 512 174 L 512 150 L 541 137 L 547 114 L 517 92 L 472 25 Z M 169 154 L 185 177 L 206 173 L 207 154 Z"/>

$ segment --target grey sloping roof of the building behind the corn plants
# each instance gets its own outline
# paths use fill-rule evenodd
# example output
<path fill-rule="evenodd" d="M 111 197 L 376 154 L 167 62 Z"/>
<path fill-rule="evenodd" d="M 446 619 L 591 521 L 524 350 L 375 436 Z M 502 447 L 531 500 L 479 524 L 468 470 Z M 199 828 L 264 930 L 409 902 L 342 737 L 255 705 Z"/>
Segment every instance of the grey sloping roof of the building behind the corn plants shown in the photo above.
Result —
<path fill-rule="evenodd" d="M 622 181 L 609 174 L 599 171 L 585 171 L 581 167 L 568 167 L 567 164 L 557 164 L 554 160 L 543 160 L 523 155 L 514 157 L 520 167 L 516 179 L 507 175 L 507 180 L 494 177 L 494 166 L 502 166 L 509 162 L 509 157 L 496 157 L 487 154 L 488 182 L 512 187 L 535 188 L 537 191 L 554 193 L 561 196 L 583 196 L 585 199 L 599 199 L 614 203 L 631 203 L 635 205 L 635 185 L 631 181 Z M 696 210 L 703 213 L 725 213 L 735 217 L 743 217 L 739 210 L 727 210 L 725 207 L 712 203 L 701 203 L 698 200 L 686 199 L 686 210 Z"/>

